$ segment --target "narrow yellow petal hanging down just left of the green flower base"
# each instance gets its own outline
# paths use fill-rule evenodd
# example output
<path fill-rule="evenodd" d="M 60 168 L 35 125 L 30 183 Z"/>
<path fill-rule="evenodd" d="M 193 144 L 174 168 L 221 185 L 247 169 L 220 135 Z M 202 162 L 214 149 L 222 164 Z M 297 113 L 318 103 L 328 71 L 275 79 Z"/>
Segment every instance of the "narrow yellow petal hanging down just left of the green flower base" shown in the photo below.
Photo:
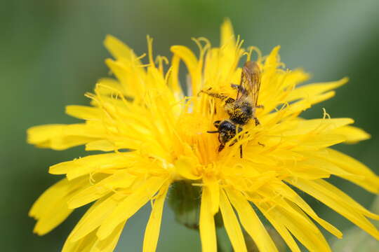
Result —
<path fill-rule="evenodd" d="M 164 200 L 167 195 L 169 181 L 159 190 L 157 199 L 152 205 L 152 213 L 147 222 L 145 237 L 143 239 L 143 252 L 155 252 L 157 249 L 159 230 L 161 228 L 162 212 L 164 208 Z"/>

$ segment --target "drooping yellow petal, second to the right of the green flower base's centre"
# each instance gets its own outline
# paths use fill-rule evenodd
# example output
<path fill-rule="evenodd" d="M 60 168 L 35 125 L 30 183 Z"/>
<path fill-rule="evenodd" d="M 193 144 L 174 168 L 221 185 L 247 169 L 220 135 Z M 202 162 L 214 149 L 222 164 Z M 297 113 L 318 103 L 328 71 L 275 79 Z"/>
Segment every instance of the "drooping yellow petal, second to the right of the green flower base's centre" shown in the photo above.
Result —
<path fill-rule="evenodd" d="M 225 195 L 225 192 L 223 190 L 221 190 L 220 193 L 220 210 L 222 214 L 222 220 L 224 221 L 225 230 L 227 231 L 227 235 L 232 242 L 234 251 L 247 252 L 246 243 L 244 235 L 242 234 L 241 227 L 236 215 L 234 214 L 232 205 L 230 205 L 230 202 L 227 199 L 227 195 Z"/>

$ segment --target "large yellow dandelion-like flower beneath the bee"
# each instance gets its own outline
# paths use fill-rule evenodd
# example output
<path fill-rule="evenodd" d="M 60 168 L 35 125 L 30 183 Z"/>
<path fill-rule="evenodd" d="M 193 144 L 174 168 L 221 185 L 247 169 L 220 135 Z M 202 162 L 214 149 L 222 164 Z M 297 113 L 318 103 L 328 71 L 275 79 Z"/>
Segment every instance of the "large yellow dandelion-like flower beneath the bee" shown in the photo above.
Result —
<path fill-rule="evenodd" d="M 333 97 L 333 89 L 347 78 L 299 86 L 309 76 L 301 69 L 286 69 L 279 59 L 279 46 L 267 57 L 256 48 L 242 49 L 228 20 L 221 27 L 219 48 L 212 48 L 206 38 L 194 41 L 198 57 L 174 45 L 167 67 L 165 57 L 154 61 L 149 37 L 148 64 L 142 64 L 143 55 L 137 57 L 117 38 L 107 36 L 105 46 L 114 59 L 106 63 L 117 80 L 99 80 L 95 92 L 86 94 L 91 106 L 66 109 L 69 116 L 85 122 L 28 130 L 28 142 L 38 147 L 64 150 L 84 144 L 87 151 L 106 152 L 50 167 L 51 174 L 66 177 L 34 203 L 29 212 L 37 220 L 34 232 L 44 235 L 72 209 L 94 202 L 63 251 L 112 251 L 128 218 L 151 201 L 143 251 L 155 251 L 168 190 L 171 184 L 185 181 L 201 188 L 199 232 L 206 252 L 217 251 L 214 216 L 218 211 L 234 251 L 246 251 L 241 226 L 260 251 L 277 251 L 256 209 L 292 251 L 300 251 L 294 237 L 310 251 L 331 251 L 314 222 L 336 237 L 342 233 L 317 216 L 294 188 L 379 239 L 378 230 L 367 219 L 379 216 L 325 180 L 340 176 L 371 193 L 379 192 L 379 178 L 368 167 L 329 148 L 369 135 L 351 126 L 352 119 L 330 118 L 325 111 L 320 119 L 299 117 L 312 104 Z M 248 123 L 234 137 L 237 144 L 227 144 L 218 152 L 218 134 L 207 131 L 215 130 L 215 120 L 228 118 L 225 102 L 199 92 L 211 87 L 235 97 L 231 83 L 239 83 L 239 63 L 254 57 L 262 71 L 258 104 L 264 109 L 256 111 L 260 125 Z M 185 85 L 179 83 L 180 61 L 189 73 Z"/>

